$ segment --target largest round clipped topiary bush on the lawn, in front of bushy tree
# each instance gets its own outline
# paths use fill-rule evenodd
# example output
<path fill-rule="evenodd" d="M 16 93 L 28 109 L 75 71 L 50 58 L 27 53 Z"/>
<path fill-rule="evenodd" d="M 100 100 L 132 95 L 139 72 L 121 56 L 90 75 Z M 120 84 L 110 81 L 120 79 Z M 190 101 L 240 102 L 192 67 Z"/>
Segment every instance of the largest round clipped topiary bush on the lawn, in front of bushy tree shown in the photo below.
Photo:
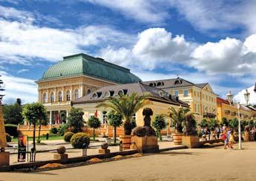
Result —
<path fill-rule="evenodd" d="M 90 137 L 88 137 L 87 134 L 79 132 L 76 134 L 73 134 L 73 137 L 70 139 L 70 143 L 73 146 L 73 148 L 83 148 L 83 145 L 89 146 L 90 144 Z"/>

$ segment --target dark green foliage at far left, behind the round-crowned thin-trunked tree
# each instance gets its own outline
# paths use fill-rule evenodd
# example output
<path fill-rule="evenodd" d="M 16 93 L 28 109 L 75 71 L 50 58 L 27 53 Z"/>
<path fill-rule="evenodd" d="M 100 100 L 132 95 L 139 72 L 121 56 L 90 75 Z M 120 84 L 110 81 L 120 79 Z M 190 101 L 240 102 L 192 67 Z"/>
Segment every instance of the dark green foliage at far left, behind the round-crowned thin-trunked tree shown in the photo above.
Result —
<path fill-rule="evenodd" d="M 22 106 L 19 103 L 3 106 L 4 123 L 16 124 L 23 123 Z"/>

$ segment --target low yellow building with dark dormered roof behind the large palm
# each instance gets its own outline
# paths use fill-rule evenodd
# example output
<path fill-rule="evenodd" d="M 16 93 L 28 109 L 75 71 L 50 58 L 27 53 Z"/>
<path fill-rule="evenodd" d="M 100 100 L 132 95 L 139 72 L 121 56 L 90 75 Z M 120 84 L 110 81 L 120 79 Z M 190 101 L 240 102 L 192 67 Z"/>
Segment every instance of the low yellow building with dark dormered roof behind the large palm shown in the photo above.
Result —
<path fill-rule="evenodd" d="M 84 119 L 88 120 L 92 115 L 99 117 L 99 120 L 102 120 L 102 123 L 106 123 L 105 116 L 108 112 L 108 108 L 99 107 L 96 108 L 99 103 L 102 103 L 105 100 L 108 100 L 109 97 L 122 95 L 131 95 L 133 92 L 137 93 L 137 96 L 142 95 L 143 93 L 149 93 L 150 96 L 146 101 L 147 104 L 143 106 L 136 114 L 134 114 L 134 120 L 137 121 L 138 126 L 143 126 L 143 117 L 142 110 L 145 107 L 150 107 L 153 110 L 152 120 L 155 115 L 164 114 L 168 115 L 169 108 L 174 107 L 174 109 L 179 109 L 180 106 L 189 107 L 187 103 L 184 103 L 182 100 L 179 100 L 176 96 L 171 96 L 168 92 L 163 91 L 162 89 L 157 89 L 156 87 L 151 87 L 145 85 L 144 83 L 126 83 L 113 86 L 104 86 L 96 91 L 91 92 L 89 95 L 85 95 L 82 98 L 73 101 L 73 107 L 81 108 L 84 110 L 85 115 Z M 105 113 L 105 114 L 104 114 Z M 168 118 L 170 122 L 170 118 Z"/>

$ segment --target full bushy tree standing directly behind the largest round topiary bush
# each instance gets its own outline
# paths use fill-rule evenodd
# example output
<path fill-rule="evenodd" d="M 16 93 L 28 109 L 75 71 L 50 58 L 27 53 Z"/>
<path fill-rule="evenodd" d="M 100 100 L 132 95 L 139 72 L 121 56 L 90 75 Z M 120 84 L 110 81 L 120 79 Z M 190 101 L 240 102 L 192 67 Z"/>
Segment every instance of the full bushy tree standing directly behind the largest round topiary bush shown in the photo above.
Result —
<path fill-rule="evenodd" d="M 84 126 L 84 119 L 82 118 L 84 112 L 79 108 L 72 108 L 68 115 L 68 127 L 73 128 L 73 133 L 82 132 L 82 127 Z"/>

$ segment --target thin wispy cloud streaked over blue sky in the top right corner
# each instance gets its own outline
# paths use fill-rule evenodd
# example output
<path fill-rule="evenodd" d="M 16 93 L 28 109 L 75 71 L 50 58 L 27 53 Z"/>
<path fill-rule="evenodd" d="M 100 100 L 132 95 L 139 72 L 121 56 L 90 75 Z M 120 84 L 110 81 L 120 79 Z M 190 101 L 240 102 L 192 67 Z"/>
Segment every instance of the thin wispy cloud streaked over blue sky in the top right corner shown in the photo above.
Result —
<path fill-rule="evenodd" d="M 170 0 L 170 5 L 177 8 L 195 30 L 209 32 L 220 30 L 228 32 L 240 27 L 246 34 L 256 32 L 256 1 L 204 1 Z"/>

